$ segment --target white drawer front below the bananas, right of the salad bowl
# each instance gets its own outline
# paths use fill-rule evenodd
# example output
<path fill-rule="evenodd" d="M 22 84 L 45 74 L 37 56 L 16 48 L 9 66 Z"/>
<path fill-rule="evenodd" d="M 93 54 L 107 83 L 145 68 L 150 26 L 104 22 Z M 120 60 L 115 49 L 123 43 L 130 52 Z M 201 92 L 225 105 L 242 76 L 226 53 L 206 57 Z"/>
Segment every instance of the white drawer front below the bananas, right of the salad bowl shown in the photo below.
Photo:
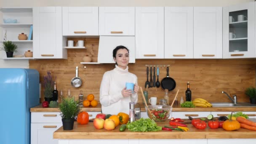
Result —
<path fill-rule="evenodd" d="M 171 117 L 188 119 L 189 116 L 193 118 L 197 118 L 197 117 L 207 117 L 210 114 L 211 112 L 172 112 Z"/>

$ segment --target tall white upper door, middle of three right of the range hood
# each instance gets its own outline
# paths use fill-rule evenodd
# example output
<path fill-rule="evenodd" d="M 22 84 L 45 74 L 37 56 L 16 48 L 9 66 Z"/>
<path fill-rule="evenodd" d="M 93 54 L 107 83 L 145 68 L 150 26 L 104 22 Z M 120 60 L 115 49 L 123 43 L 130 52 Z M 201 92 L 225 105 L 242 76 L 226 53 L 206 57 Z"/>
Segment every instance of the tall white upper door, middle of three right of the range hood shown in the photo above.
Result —
<path fill-rule="evenodd" d="M 165 7 L 165 59 L 193 59 L 193 7 Z"/>

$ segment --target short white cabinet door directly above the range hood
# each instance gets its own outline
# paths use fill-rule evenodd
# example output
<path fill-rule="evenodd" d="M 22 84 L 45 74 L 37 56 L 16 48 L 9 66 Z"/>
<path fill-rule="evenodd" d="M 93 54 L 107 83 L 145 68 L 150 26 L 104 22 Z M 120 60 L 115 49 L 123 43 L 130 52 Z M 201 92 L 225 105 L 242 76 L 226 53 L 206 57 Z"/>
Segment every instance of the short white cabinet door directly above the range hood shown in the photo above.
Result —
<path fill-rule="evenodd" d="M 99 35 L 135 35 L 135 7 L 99 7 Z"/>

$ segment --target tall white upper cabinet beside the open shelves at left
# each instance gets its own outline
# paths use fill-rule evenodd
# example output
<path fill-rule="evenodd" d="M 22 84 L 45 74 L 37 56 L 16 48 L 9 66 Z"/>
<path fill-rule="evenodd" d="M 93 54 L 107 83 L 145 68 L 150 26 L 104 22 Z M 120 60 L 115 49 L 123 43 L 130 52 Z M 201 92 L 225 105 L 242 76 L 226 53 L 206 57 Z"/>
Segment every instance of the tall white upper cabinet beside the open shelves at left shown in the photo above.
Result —
<path fill-rule="evenodd" d="M 67 59 L 63 48 L 61 7 L 33 8 L 33 48 L 36 59 Z"/>

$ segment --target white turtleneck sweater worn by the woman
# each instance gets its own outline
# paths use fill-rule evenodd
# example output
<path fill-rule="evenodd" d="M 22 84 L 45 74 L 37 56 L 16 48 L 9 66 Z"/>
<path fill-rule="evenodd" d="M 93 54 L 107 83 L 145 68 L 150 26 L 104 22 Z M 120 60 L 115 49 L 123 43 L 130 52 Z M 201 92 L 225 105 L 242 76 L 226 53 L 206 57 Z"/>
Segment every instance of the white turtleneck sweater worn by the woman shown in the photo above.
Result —
<path fill-rule="evenodd" d="M 131 96 L 123 97 L 122 90 L 125 83 L 134 83 L 137 85 L 136 75 L 121 69 L 115 65 L 115 69 L 104 73 L 99 92 L 99 101 L 101 103 L 101 111 L 104 114 L 117 115 L 119 112 L 129 114 L 129 102 L 138 101 L 138 94 L 133 93 Z"/>

